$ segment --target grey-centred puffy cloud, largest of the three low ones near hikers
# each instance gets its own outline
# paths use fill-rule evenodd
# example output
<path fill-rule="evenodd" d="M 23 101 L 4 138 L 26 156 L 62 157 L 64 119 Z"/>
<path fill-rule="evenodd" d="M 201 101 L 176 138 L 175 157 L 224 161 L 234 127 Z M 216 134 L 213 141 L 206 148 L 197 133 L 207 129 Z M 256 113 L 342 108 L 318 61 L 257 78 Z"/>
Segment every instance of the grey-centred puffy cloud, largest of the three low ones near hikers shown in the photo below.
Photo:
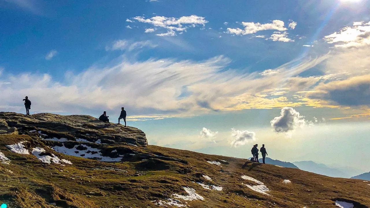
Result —
<path fill-rule="evenodd" d="M 275 117 L 270 123 L 273 131 L 289 133 L 296 128 L 305 126 L 307 122 L 305 117 L 292 107 L 284 107 L 280 112 L 280 116 Z"/>

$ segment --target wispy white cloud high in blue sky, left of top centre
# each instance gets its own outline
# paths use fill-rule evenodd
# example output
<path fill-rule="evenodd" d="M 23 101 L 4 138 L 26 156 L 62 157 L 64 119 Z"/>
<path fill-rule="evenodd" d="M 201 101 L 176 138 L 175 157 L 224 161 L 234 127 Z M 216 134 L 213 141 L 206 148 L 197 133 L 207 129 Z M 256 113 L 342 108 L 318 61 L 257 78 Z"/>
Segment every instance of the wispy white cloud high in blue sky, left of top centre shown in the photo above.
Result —
<path fill-rule="evenodd" d="M 196 27 L 197 25 L 205 26 L 205 24 L 208 23 L 208 21 L 205 20 L 204 17 L 199 17 L 196 15 L 182 16 L 180 18 L 155 16 L 149 19 L 137 16 L 132 17 L 132 19 L 142 23 L 152 24 L 155 27 L 166 28 L 167 32 L 157 34 L 158 36 L 175 36 L 176 31 L 183 32 L 186 31 L 186 29 L 189 27 Z"/>

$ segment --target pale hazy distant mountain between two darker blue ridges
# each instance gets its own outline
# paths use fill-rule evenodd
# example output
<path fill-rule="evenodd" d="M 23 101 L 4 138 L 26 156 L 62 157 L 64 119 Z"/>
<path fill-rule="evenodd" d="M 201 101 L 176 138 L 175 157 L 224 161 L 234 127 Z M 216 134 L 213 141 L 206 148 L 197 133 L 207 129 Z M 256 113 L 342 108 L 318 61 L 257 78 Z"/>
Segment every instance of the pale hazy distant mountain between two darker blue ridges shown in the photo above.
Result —
<path fill-rule="evenodd" d="M 321 175 L 327 175 L 330 177 L 350 178 L 351 175 L 342 172 L 336 168 L 327 167 L 325 164 L 316 163 L 313 161 L 297 161 L 293 162 L 299 169 L 309 172 L 314 172 Z"/>

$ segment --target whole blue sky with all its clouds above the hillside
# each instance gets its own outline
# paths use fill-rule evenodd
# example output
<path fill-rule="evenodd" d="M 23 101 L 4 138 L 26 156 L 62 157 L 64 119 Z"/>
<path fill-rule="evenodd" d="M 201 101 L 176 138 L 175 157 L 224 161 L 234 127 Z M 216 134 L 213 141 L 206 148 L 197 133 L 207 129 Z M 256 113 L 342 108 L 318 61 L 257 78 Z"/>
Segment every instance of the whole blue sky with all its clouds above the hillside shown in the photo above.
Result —
<path fill-rule="evenodd" d="M 368 172 L 370 0 L 0 0 L 0 111 L 107 111 L 149 144 Z M 353 162 L 353 158 L 356 161 Z M 341 161 L 341 162 L 338 162 Z"/>

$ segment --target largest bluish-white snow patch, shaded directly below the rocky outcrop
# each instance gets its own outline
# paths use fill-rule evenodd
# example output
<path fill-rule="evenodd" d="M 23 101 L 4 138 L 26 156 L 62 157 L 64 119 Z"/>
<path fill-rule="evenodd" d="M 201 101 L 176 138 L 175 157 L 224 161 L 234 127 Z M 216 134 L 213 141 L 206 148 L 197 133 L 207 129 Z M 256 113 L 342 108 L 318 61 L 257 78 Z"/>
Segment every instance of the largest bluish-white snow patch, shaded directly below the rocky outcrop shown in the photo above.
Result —
<path fill-rule="evenodd" d="M 81 144 L 81 146 L 86 147 L 87 150 L 77 150 L 78 145 L 74 145 L 73 148 L 68 149 L 67 147 L 64 146 L 54 146 L 52 147 L 53 150 L 66 154 L 66 155 L 71 155 L 71 156 L 76 156 L 76 157 L 83 157 L 83 158 L 97 158 L 97 160 L 104 161 L 104 162 L 119 162 L 122 160 L 122 157 L 105 157 L 101 156 L 101 152 L 97 148 L 92 148 L 90 146 L 87 146 L 85 144 Z M 76 153 L 78 152 L 78 153 Z M 84 156 L 81 156 L 84 155 Z"/>

